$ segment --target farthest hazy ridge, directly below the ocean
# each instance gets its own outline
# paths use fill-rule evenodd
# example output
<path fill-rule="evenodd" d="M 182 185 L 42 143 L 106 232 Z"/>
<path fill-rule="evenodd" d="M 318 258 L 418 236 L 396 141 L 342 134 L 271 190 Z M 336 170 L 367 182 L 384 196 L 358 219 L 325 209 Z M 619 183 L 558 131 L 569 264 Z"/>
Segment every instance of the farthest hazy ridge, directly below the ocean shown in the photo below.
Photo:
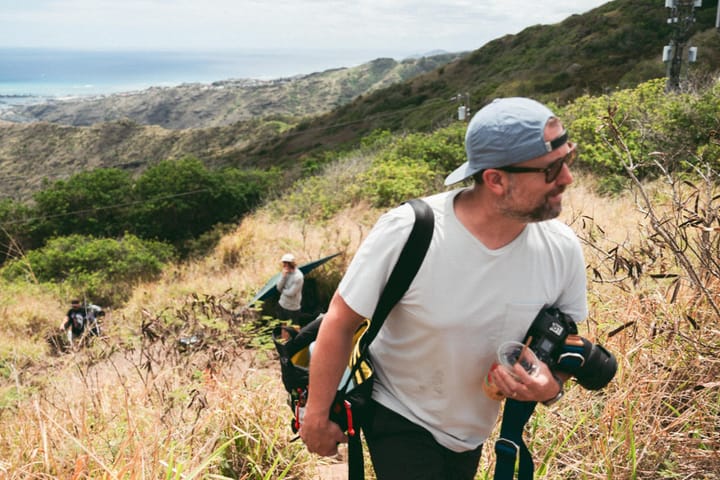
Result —
<path fill-rule="evenodd" d="M 356 67 L 274 80 L 230 79 L 51 100 L 0 112 L 0 118 L 73 126 L 131 120 L 171 129 L 220 127 L 271 116 L 300 118 L 328 112 L 358 95 L 404 82 L 462 55 L 434 52 L 402 61 L 379 58 Z"/>

